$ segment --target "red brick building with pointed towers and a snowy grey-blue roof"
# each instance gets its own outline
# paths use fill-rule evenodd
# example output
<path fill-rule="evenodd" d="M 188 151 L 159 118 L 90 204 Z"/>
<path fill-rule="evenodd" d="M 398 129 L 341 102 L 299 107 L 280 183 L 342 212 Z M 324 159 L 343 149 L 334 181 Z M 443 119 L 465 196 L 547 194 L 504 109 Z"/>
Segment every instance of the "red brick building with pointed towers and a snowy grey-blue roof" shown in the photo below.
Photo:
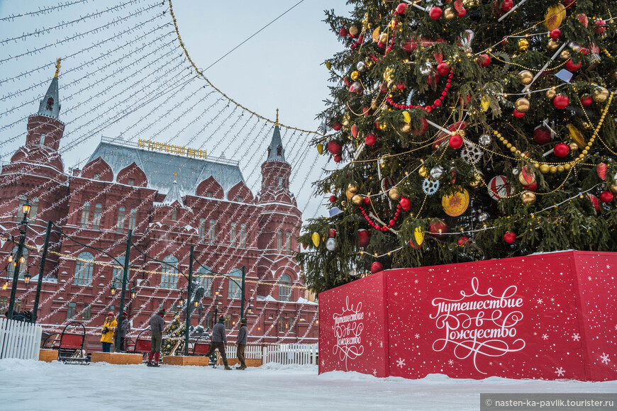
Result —
<path fill-rule="evenodd" d="M 211 327 L 215 313 L 221 314 L 233 337 L 240 319 L 240 287 L 218 274 L 239 284 L 244 267 L 250 341 L 316 341 L 317 306 L 306 299 L 292 255 L 299 247 L 301 213 L 289 191 L 291 166 L 278 123 L 261 167 L 262 185 L 254 195 L 238 162 L 196 158 L 184 147 L 157 142 L 103 137 L 83 169 L 65 171 L 58 152 L 65 129 L 60 108 L 56 72 L 38 111 L 28 118 L 25 145 L 0 174 L 5 238 L 18 235 L 20 205 L 26 199 L 32 205 L 19 274 L 23 278 L 28 272 L 32 281 L 27 286 L 18 282 L 16 311 L 32 309 L 51 220 L 55 226 L 37 321 L 49 329 L 83 322 L 90 344 L 98 344 L 106 314 L 119 309 L 130 230 L 126 310 L 133 337 L 159 308 L 181 310 L 179 303 L 186 307 L 189 297 L 198 304 L 191 305 L 191 325 Z M 10 283 L 14 266 L 8 257 L 15 246 L 2 243 L 3 274 Z M 191 247 L 196 293 L 189 296 Z M 0 291 L 1 310 L 8 307 L 9 292 L 10 287 Z"/>

